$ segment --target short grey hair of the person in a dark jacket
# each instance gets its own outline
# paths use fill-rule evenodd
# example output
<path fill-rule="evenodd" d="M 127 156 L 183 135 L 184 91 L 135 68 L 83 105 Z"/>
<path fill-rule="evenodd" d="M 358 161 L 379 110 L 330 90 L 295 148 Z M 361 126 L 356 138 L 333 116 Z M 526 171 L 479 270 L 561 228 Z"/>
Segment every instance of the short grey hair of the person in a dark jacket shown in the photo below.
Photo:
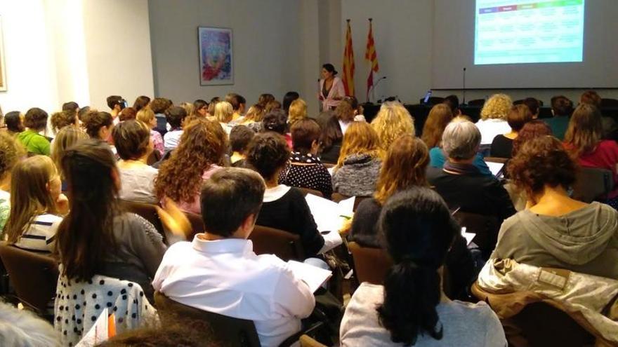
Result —
<path fill-rule="evenodd" d="M 442 149 L 449 158 L 470 159 L 480 145 L 480 131 L 470 121 L 452 121 L 442 133 Z"/>

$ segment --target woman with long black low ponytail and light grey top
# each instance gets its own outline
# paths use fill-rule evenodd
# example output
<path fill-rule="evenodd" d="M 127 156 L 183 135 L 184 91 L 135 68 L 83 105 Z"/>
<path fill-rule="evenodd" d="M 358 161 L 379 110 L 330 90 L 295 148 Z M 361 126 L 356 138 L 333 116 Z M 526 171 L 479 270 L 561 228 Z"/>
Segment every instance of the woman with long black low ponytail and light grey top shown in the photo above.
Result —
<path fill-rule="evenodd" d="M 380 230 L 393 259 L 384 285 L 362 283 L 339 332 L 341 346 L 506 346 L 485 302 L 448 299 L 442 290 L 447 253 L 459 226 L 437 193 L 414 187 L 383 207 Z"/>

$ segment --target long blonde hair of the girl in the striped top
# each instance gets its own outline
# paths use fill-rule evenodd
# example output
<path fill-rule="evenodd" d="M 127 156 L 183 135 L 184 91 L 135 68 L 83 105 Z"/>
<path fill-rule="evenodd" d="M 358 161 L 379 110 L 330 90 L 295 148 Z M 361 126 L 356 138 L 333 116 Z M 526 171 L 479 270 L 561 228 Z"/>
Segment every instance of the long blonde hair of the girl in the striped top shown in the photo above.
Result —
<path fill-rule="evenodd" d="M 48 188 L 55 175 L 58 172 L 48 156 L 32 156 L 15 165 L 11 176 L 11 214 L 4 226 L 8 243 L 18 242 L 34 217 L 57 212 Z"/>

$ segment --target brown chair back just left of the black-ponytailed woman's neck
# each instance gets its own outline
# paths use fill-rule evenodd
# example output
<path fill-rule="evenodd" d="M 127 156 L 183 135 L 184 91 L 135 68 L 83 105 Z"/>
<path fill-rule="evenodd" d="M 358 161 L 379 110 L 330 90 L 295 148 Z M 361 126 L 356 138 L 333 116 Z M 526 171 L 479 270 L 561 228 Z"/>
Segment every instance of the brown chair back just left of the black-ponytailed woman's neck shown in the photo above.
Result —
<path fill-rule="evenodd" d="M 386 250 L 362 247 L 355 242 L 348 243 L 348 250 L 352 252 L 354 272 L 359 283 L 383 284 L 388 269 L 393 265 Z"/>

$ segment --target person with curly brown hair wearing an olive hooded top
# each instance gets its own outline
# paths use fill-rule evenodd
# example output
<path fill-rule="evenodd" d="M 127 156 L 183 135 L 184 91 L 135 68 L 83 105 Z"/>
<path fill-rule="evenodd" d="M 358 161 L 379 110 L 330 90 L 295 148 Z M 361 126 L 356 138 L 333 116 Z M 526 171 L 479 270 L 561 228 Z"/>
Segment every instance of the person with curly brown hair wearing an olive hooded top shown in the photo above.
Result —
<path fill-rule="evenodd" d="M 526 191 L 527 206 L 502 224 L 492 259 L 618 279 L 618 212 L 570 198 L 575 170 L 554 137 L 523 145 L 508 172 Z"/>

